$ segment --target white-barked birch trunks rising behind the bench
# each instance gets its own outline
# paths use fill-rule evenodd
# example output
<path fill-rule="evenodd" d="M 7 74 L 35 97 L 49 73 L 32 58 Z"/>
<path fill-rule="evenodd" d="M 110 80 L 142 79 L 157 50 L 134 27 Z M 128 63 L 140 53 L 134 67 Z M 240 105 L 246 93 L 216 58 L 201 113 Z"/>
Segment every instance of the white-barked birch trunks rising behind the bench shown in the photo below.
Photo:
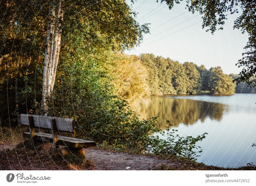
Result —
<path fill-rule="evenodd" d="M 57 10 L 55 16 L 55 10 Z M 61 22 L 63 20 L 63 10 L 61 0 L 57 4 L 52 3 L 49 8 L 49 18 L 47 25 L 46 47 L 44 57 L 44 75 L 42 89 L 42 112 L 44 115 L 48 113 L 48 106 L 52 90 L 54 86 L 56 69 L 60 54 L 60 39 L 61 39 Z"/>

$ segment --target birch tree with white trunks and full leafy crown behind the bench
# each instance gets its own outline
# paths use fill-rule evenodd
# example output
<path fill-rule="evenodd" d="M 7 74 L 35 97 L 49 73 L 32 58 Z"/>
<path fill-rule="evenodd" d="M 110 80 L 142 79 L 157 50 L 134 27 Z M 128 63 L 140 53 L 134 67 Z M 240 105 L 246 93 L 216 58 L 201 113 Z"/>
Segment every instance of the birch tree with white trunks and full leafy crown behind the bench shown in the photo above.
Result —
<path fill-rule="evenodd" d="M 89 54 L 100 47 L 114 52 L 124 51 L 139 44 L 143 34 L 148 33 L 147 24 L 140 25 L 136 21 L 136 13 L 124 0 L 2 0 L 0 8 L 0 31 L 6 39 L 4 50 L 1 50 L 1 65 L 6 66 L 7 74 L 10 73 L 9 66 L 17 66 L 16 74 L 4 79 L 21 78 L 19 86 L 22 90 L 25 84 L 22 78 L 34 79 L 26 82 L 33 93 L 28 96 L 27 91 L 20 92 L 22 104 L 34 102 L 20 111 L 23 113 L 47 115 L 51 107 L 49 102 L 54 97 L 58 66 L 74 54 L 71 50 L 77 52 L 76 45 L 83 46 Z M 81 35 L 83 41 L 76 43 Z M 71 60 L 70 65 L 73 64 Z M 23 69 L 26 73 L 19 72 Z M 37 77 L 32 76 L 40 77 L 36 81 Z"/>

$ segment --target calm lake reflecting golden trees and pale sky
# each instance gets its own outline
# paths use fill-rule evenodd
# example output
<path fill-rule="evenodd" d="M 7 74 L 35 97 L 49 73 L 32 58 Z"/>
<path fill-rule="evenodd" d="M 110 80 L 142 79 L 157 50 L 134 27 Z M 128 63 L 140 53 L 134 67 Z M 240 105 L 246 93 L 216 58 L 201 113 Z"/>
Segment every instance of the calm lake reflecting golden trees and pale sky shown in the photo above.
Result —
<path fill-rule="evenodd" d="M 220 167 L 256 164 L 256 94 L 232 96 L 151 96 L 141 101 L 139 118 L 158 116 L 158 128 L 166 120 L 180 136 L 207 132 L 197 162 Z M 160 135 L 159 135 L 160 136 Z M 165 136 L 161 136 L 164 138 Z"/>

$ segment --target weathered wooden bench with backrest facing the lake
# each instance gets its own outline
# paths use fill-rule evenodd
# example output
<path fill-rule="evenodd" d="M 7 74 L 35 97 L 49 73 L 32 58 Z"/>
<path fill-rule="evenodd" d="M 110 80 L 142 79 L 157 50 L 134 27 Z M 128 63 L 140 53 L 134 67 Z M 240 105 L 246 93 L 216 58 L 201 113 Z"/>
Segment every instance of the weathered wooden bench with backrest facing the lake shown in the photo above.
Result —
<path fill-rule="evenodd" d="M 96 146 L 94 141 L 58 135 L 58 131 L 72 134 L 76 133 L 73 119 L 20 114 L 20 120 L 22 125 L 29 126 L 29 132 L 24 132 L 23 135 L 25 137 L 31 137 L 31 143 L 33 145 L 35 145 L 36 142 L 45 141 L 54 143 L 56 149 L 59 148 L 59 145 L 66 146 L 69 151 L 80 151 L 84 148 Z M 36 133 L 35 128 L 50 129 L 51 134 L 43 132 Z"/>

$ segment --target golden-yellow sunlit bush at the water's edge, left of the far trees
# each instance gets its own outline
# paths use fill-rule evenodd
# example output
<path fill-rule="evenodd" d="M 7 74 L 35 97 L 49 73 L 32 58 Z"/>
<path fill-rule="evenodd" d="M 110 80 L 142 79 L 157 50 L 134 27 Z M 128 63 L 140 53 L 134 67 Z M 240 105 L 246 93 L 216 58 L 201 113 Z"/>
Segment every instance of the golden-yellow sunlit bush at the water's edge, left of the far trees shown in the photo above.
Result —
<path fill-rule="evenodd" d="M 114 93 L 129 102 L 132 109 L 136 110 L 140 106 L 140 101 L 144 97 L 149 97 L 148 72 L 142 65 L 140 58 L 135 55 L 119 54 L 114 68 L 113 84 Z"/>

